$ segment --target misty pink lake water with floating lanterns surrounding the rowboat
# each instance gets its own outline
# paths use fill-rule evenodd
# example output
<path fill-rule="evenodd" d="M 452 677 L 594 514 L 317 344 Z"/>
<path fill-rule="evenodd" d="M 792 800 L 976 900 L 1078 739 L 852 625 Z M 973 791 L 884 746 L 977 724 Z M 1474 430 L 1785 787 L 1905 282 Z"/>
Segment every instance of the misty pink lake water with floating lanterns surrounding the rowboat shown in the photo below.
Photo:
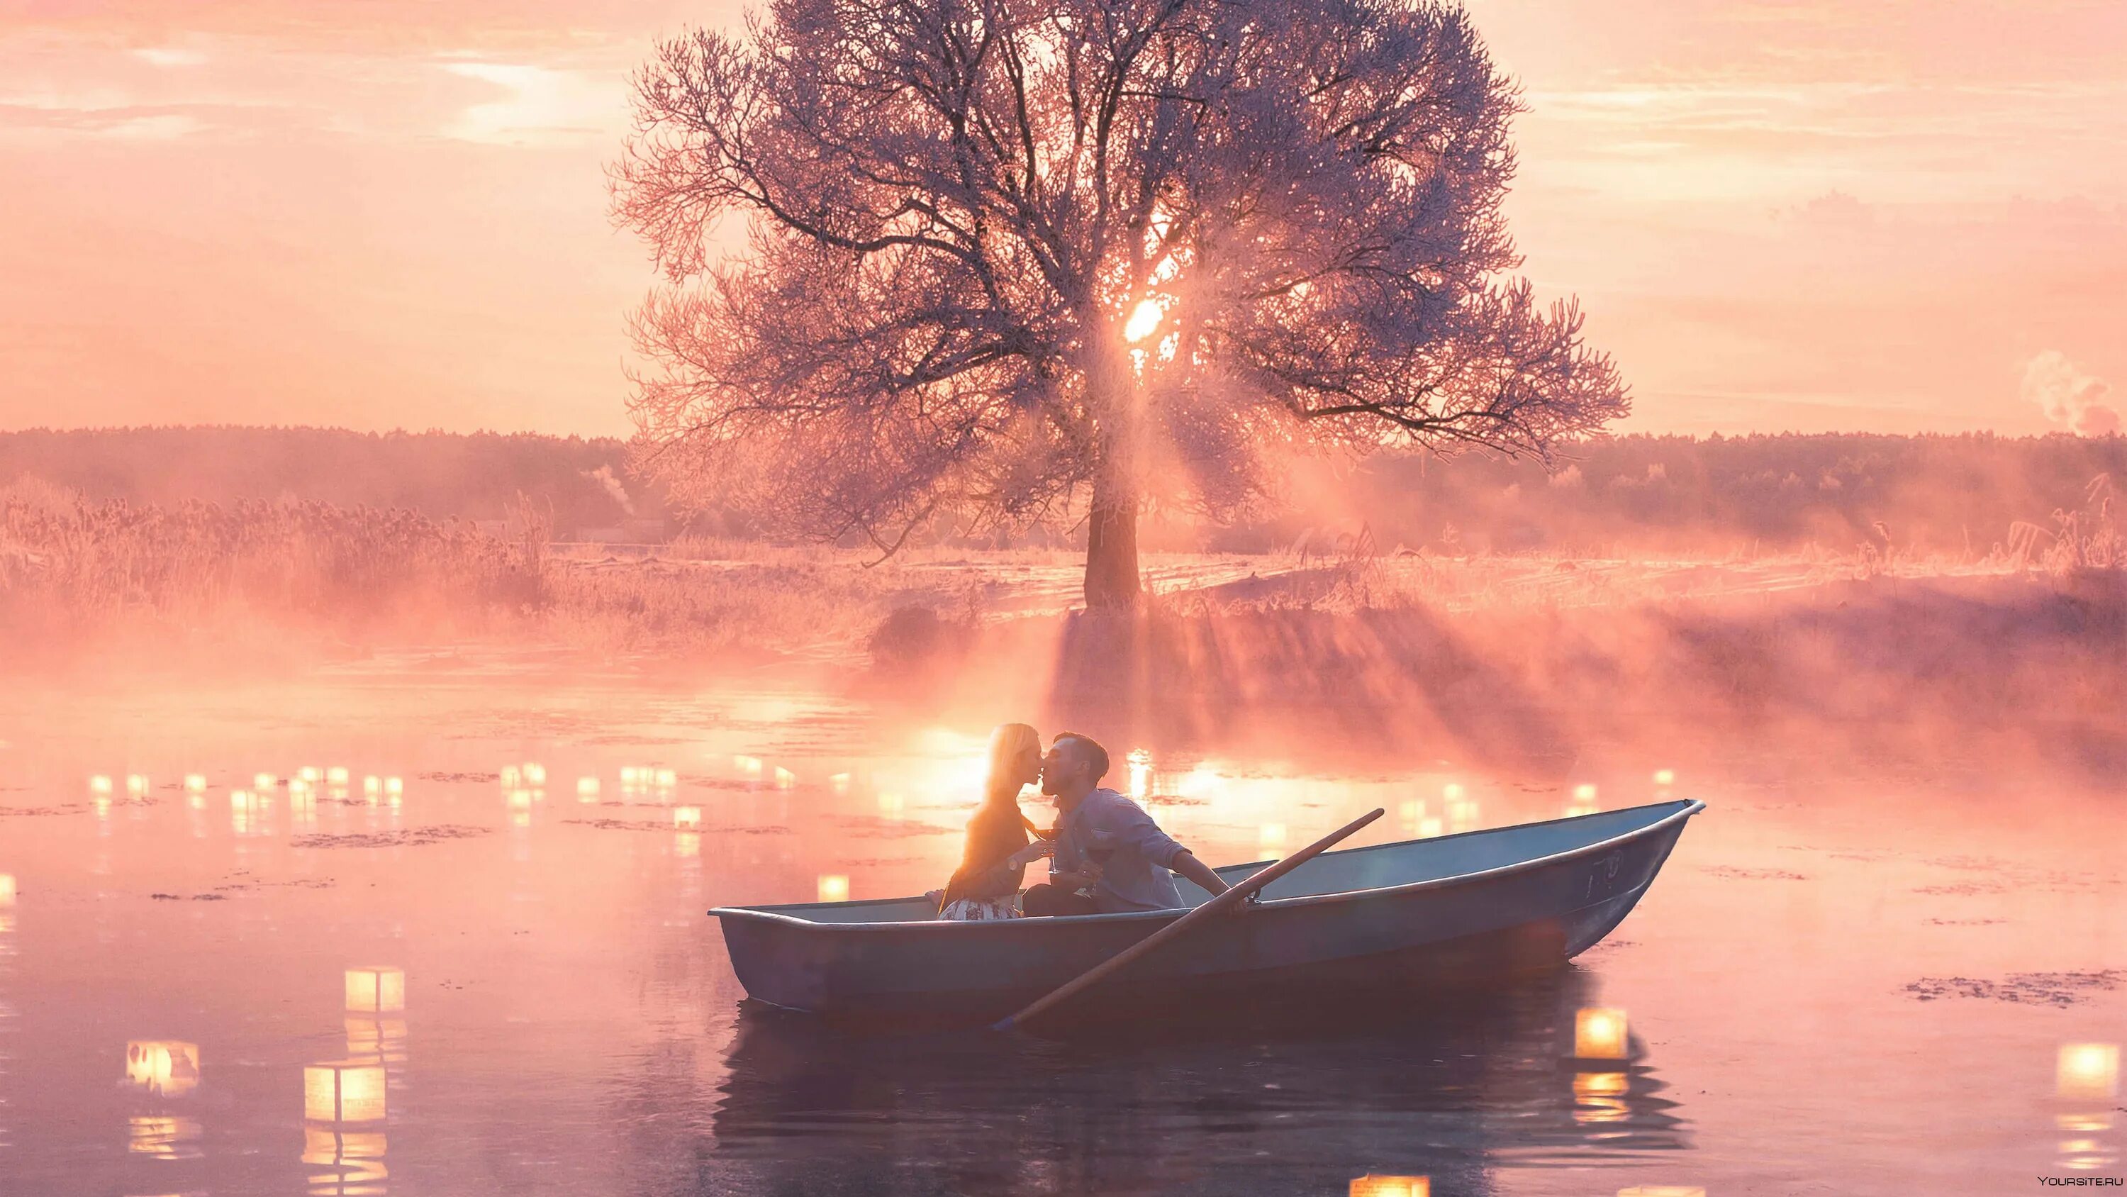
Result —
<path fill-rule="evenodd" d="M 1283 1197 L 1374 1174 L 1729 1197 L 2123 1171 L 2127 804 L 1987 761 L 1678 736 L 1519 776 L 1138 746 L 1119 780 L 1215 863 L 1372 806 L 1361 842 L 1708 812 L 1570 970 L 1366 1025 L 1055 1044 L 742 1006 L 702 912 L 940 884 L 983 731 L 532 670 L 15 689 L 0 1193 Z M 1629 1061 L 1572 1063 L 1585 1008 L 1625 1012 Z"/>

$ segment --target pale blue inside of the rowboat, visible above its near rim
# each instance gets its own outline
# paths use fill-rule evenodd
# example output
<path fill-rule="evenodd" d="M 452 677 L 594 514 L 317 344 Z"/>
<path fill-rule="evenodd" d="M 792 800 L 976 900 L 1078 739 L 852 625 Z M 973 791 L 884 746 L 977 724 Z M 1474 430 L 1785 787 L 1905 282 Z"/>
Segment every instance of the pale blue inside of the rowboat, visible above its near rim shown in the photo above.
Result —
<path fill-rule="evenodd" d="M 1263 901 L 1280 897 L 1312 897 L 1321 893 L 1349 893 L 1359 889 L 1385 889 L 1421 880 L 1442 880 L 1478 874 L 1572 853 L 1604 840 L 1644 831 L 1663 819 L 1693 806 L 1689 799 L 1657 802 L 1651 806 L 1629 806 L 1625 810 L 1602 810 L 1570 819 L 1548 819 L 1544 823 L 1517 823 L 1512 827 L 1489 827 L 1483 831 L 1461 831 L 1427 840 L 1400 840 L 1393 844 L 1368 844 L 1363 848 L 1329 850 L 1297 870 L 1280 876 L 1263 889 Z M 1221 865 L 1217 872 L 1227 882 L 1238 882 L 1270 861 Z M 1174 878 L 1185 906 L 1198 906 L 1210 895 L 1189 880 Z M 785 914 L 808 923 L 927 923 L 936 918 L 929 901 L 917 897 L 883 897 L 870 901 L 804 901 L 787 906 L 742 906 L 734 910 L 757 910 L 764 914 Z M 1095 914 L 1093 918 L 1102 918 Z M 1110 916 L 1112 918 L 1112 916 Z"/>

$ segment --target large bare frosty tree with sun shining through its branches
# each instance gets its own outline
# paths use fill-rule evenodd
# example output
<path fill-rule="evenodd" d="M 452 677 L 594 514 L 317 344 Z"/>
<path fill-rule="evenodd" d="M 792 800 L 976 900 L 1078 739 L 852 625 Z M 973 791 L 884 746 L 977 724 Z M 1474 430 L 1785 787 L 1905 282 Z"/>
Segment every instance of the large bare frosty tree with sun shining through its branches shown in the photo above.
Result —
<path fill-rule="evenodd" d="M 1517 111 L 1425 0 L 772 0 L 636 77 L 640 440 L 887 551 L 1085 515 L 1091 606 L 1295 451 L 1548 453 L 1627 400 L 1508 274 Z"/>

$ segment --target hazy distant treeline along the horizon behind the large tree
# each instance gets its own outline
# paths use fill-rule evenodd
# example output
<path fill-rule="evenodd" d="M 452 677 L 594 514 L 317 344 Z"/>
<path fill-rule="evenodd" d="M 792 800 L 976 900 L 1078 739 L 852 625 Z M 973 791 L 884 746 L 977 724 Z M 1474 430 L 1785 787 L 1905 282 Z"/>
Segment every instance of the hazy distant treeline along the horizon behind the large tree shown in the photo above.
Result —
<path fill-rule="evenodd" d="M 2016 523 L 2101 519 L 2127 438 L 1623 436 L 1538 461 L 1380 455 L 1336 502 L 1225 529 L 1149 529 L 1163 546 L 1446 553 L 1780 553 L 1859 546 L 1987 555 Z M 0 434 L 0 487 L 38 478 L 91 500 L 319 500 L 502 521 L 519 498 L 559 538 L 742 536 L 732 512 L 681 517 L 610 438 L 136 427 Z"/>

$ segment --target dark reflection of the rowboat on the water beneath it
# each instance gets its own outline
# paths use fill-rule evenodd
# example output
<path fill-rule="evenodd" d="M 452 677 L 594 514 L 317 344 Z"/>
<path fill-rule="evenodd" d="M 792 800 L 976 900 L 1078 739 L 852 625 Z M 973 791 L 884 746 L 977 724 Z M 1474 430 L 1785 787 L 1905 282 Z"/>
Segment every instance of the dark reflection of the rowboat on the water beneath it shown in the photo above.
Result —
<path fill-rule="evenodd" d="M 859 1040 L 747 1006 L 704 1191 L 1283 1197 L 1425 1176 L 1476 1193 L 1504 1157 L 1685 1146 L 1646 1065 L 1602 1084 L 1602 1123 L 1580 1118 L 1568 1057 L 1587 991 L 1565 970 L 1338 1029 L 1204 1021 L 1070 1042 Z"/>

